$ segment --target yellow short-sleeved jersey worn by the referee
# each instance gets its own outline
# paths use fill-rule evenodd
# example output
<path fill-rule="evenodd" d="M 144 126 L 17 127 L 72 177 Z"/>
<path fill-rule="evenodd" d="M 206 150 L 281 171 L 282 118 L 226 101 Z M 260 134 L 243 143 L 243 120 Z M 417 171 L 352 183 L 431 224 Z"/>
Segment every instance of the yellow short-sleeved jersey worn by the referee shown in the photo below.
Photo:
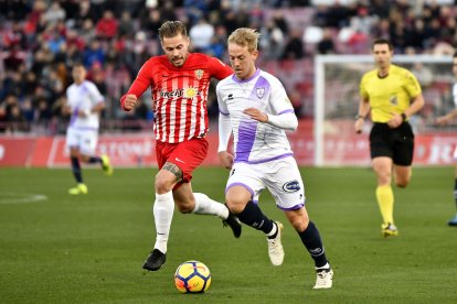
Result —
<path fill-rule="evenodd" d="M 365 73 L 360 82 L 360 95 L 370 101 L 373 122 L 387 122 L 393 112 L 404 112 L 411 99 L 421 91 L 413 73 L 396 65 L 390 66 L 384 78 L 380 78 L 374 69 Z"/>

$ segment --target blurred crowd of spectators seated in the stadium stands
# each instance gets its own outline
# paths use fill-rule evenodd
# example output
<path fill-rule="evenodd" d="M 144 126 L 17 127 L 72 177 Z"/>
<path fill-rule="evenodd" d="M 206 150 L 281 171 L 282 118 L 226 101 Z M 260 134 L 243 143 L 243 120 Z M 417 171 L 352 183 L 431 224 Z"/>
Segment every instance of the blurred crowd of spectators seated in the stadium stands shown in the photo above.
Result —
<path fill-rule="evenodd" d="M 166 20 L 184 21 L 194 51 L 224 62 L 228 33 L 258 29 L 259 66 L 274 69 L 297 115 L 307 116 L 304 96 L 312 91 L 313 55 L 365 54 L 373 37 L 390 39 L 397 54 L 453 54 L 455 2 L 0 0 L 0 132 L 63 133 L 61 108 L 76 62 L 106 97 L 104 130 L 149 126 L 149 96 L 132 113 L 120 111 L 118 100 L 141 64 L 161 54 L 157 30 Z M 211 91 L 209 112 L 214 115 Z"/>

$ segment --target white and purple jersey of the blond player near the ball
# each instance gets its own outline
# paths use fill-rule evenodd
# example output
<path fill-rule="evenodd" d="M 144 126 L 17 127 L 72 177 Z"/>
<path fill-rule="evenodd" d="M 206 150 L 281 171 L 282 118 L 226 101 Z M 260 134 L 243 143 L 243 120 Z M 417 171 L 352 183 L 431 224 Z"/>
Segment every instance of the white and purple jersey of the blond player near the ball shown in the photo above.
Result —
<path fill-rule="evenodd" d="M 261 69 L 244 80 L 232 75 L 217 84 L 216 94 L 221 115 L 230 117 L 235 163 L 256 164 L 293 155 L 285 130 L 243 113 L 247 108 L 273 116 L 294 113 L 286 90 L 275 76 Z"/>

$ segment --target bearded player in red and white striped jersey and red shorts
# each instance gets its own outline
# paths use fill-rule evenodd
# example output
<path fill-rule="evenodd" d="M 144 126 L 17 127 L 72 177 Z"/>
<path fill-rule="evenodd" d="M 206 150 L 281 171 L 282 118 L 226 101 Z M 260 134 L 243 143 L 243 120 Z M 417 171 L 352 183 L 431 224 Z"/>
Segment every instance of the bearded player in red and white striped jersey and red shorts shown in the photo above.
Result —
<path fill-rule="evenodd" d="M 145 90 L 151 88 L 159 173 L 153 204 L 156 243 L 142 265 L 149 271 L 159 270 L 166 262 L 174 204 L 183 214 L 219 216 L 236 238 L 241 235 L 238 219 L 226 206 L 202 193 L 193 193 L 191 186 L 192 172 L 208 154 L 210 80 L 223 79 L 233 70 L 217 58 L 190 53 L 190 39 L 180 21 L 164 22 L 159 37 L 164 55 L 149 58 L 120 99 L 123 109 L 130 111 Z"/>

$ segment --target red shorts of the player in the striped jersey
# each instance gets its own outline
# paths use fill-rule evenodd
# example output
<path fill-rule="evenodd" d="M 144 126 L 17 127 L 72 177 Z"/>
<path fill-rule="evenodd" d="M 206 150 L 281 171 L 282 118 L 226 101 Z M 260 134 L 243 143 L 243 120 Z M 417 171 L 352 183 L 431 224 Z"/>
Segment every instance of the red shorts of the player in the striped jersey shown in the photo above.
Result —
<path fill-rule="evenodd" d="M 179 184 L 189 183 L 192 180 L 192 172 L 208 155 L 208 141 L 204 138 L 193 138 L 179 143 L 158 141 L 156 154 L 159 169 L 162 169 L 166 162 L 173 163 L 182 171 L 182 181 Z"/>

